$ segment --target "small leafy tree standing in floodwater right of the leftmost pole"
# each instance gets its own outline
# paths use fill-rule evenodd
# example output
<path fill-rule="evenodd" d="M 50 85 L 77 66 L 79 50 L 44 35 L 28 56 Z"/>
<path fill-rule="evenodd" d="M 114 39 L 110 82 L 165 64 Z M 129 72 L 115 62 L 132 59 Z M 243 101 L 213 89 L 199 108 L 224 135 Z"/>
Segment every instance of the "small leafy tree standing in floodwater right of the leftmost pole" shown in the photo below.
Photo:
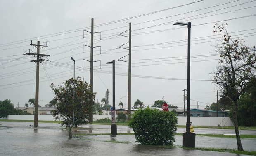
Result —
<path fill-rule="evenodd" d="M 80 77 L 70 78 L 62 83 L 62 86 L 50 86 L 55 92 L 55 120 L 62 121 L 61 126 L 66 126 L 69 138 L 72 136 L 72 128 L 75 125 L 88 124 L 89 112 L 92 110 L 96 93 L 90 92 L 90 85 Z"/>

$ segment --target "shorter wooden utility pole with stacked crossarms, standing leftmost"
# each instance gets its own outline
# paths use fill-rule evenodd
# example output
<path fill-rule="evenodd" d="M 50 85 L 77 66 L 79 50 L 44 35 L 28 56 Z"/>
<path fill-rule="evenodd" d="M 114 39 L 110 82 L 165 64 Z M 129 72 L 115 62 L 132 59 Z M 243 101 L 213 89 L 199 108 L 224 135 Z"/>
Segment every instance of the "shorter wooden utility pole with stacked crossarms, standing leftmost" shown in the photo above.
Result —
<path fill-rule="evenodd" d="M 32 44 L 31 46 L 35 46 L 37 48 L 37 53 L 26 53 L 26 55 L 33 55 L 36 57 L 36 60 L 31 60 L 30 62 L 36 63 L 36 97 L 35 97 L 35 113 L 34 113 L 34 127 L 38 127 L 38 93 L 39 93 L 39 64 L 45 59 L 42 59 L 43 56 L 50 56 L 45 54 L 40 54 L 40 46 L 47 47 L 46 43 L 44 45 L 40 45 L 40 41 L 37 41 L 37 44 Z"/>

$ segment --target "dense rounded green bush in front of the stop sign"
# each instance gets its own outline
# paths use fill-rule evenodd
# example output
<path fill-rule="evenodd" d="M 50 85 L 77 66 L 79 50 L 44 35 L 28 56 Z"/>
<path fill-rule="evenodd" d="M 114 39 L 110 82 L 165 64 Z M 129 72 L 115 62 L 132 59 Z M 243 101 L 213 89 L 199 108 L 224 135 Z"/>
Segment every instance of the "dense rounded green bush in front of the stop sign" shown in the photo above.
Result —
<path fill-rule="evenodd" d="M 143 145 L 173 145 L 178 118 L 174 112 L 138 109 L 128 122 L 137 142 Z"/>

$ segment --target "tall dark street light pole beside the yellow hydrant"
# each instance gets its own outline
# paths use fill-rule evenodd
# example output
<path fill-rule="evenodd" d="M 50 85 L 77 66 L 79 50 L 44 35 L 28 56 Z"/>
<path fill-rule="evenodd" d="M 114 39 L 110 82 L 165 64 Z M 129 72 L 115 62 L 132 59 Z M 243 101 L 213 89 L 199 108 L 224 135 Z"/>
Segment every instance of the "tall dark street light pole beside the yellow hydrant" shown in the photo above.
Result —
<path fill-rule="evenodd" d="M 195 147 L 195 133 L 190 133 L 190 34 L 191 22 L 176 22 L 174 25 L 187 25 L 187 123 L 186 133 L 183 133 L 183 147 Z"/>

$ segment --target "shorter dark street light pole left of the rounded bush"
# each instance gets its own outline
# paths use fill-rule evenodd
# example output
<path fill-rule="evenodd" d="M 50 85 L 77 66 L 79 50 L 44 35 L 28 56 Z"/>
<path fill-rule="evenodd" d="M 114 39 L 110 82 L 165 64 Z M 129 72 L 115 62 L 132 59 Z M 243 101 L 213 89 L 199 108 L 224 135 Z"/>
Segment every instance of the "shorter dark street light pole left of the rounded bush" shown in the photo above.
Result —
<path fill-rule="evenodd" d="M 113 64 L 113 110 L 111 112 L 111 135 L 117 134 L 117 128 L 116 128 L 116 108 L 115 108 L 115 60 L 111 62 L 107 62 L 107 64 Z"/>

